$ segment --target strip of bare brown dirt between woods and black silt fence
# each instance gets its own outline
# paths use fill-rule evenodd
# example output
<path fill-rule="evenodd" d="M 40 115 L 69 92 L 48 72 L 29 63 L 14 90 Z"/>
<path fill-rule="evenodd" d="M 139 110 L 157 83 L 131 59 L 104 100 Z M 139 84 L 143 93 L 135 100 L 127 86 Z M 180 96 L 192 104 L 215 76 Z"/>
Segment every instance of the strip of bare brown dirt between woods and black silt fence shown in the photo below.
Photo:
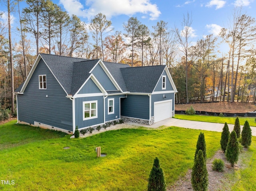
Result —
<path fill-rule="evenodd" d="M 256 110 L 252 103 L 240 102 L 212 102 L 195 104 L 175 104 L 175 110 L 186 110 L 192 106 L 196 111 L 222 112 L 222 113 L 249 113 Z"/>

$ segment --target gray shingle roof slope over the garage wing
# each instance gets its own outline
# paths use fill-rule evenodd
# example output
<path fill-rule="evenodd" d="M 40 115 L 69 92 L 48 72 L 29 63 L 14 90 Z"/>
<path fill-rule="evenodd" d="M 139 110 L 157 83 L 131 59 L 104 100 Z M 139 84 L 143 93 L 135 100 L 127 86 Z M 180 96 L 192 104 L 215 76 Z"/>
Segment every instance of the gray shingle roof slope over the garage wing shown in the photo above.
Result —
<path fill-rule="evenodd" d="M 165 65 L 121 68 L 126 89 L 133 93 L 152 93 Z"/>

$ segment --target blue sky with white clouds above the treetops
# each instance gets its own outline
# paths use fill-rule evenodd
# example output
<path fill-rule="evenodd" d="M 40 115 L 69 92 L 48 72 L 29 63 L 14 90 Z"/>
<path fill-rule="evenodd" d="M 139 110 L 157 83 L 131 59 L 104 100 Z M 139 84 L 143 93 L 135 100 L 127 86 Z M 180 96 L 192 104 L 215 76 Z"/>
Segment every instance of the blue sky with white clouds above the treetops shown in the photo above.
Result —
<path fill-rule="evenodd" d="M 112 21 L 115 31 L 123 31 L 123 23 L 130 17 L 137 17 L 142 24 L 153 31 L 152 26 L 160 20 L 168 22 L 169 28 L 181 29 L 184 15 L 192 16 L 193 41 L 203 35 L 217 35 L 228 27 L 236 6 L 242 6 L 242 13 L 256 18 L 256 0 L 53 0 L 70 15 L 76 14 L 86 24 L 99 12 Z M 26 3 L 21 2 L 21 8 Z M 6 7 L 0 4 L 0 12 Z M 3 19 L 6 18 L 6 13 Z M 18 23 L 18 14 L 13 13 L 13 26 Z"/>

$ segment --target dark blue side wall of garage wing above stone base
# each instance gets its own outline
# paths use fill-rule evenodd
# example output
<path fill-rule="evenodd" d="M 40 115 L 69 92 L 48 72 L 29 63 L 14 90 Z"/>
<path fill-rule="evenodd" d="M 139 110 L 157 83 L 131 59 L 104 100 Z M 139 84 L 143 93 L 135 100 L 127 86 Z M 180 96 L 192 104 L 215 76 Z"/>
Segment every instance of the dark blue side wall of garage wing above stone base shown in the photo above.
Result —
<path fill-rule="evenodd" d="M 121 116 L 149 120 L 149 96 L 127 95 L 127 98 L 122 98 Z"/>

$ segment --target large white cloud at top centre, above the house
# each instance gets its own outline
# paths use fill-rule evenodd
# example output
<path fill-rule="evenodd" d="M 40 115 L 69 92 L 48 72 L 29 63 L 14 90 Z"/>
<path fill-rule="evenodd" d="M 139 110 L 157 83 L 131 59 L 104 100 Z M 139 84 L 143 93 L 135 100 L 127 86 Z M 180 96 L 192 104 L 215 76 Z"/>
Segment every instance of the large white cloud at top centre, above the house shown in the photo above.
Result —
<path fill-rule="evenodd" d="M 86 0 L 83 5 L 80 0 L 60 0 L 69 14 L 76 14 L 84 18 L 92 18 L 98 13 L 107 18 L 117 15 L 133 15 L 142 13 L 150 16 L 150 20 L 156 20 L 161 12 L 156 4 L 150 0 Z M 84 8 L 86 7 L 86 8 Z"/>

